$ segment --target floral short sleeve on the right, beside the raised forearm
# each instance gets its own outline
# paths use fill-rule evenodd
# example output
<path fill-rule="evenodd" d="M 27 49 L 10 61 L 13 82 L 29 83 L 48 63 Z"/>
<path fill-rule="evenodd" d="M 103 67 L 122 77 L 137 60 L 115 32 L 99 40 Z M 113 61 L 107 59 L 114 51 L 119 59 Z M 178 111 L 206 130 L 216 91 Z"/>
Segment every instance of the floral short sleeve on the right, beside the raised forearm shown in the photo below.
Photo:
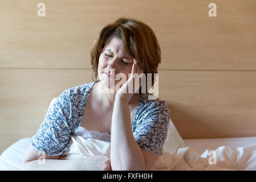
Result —
<path fill-rule="evenodd" d="M 141 149 L 162 155 L 170 121 L 169 106 L 165 101 L 152 102 L 136 126 L 133 136 Z"/>

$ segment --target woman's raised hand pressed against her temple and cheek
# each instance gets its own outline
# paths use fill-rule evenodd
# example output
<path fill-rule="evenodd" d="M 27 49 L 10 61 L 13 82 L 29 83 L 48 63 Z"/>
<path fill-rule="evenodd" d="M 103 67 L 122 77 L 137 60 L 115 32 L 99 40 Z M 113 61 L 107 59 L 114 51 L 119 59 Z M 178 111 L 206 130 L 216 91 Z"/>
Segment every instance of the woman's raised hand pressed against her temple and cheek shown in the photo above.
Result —
<path fill-rule="evenodd" d="M 142 81 L 141 82 L 139 81 L 139 76 L 141 73 L 143 73 L 143 70 L 140 68 L 139 65 L 137 65 L 137 61 L 135 59 L 133 59 L 131 75 L 129 74 L 130 76 L 129 76 L 128 80 L 116 92 L 116 98 L 121 98 L 122 100 L 129 102 L 129 100 L 131 99 L 133 94 L 135 94 L 141 86 Z M 135 90 L 135 85 L 136 85 L 135 81 L 139 81 L 139 83 L 138 83 L 139 88 L 136 88 L 136 90 Z M 133 90 L 132 90 L 132 93 L 129 93 L 128 88 L 130 88 L 131 86 L 132 86 Z"/>

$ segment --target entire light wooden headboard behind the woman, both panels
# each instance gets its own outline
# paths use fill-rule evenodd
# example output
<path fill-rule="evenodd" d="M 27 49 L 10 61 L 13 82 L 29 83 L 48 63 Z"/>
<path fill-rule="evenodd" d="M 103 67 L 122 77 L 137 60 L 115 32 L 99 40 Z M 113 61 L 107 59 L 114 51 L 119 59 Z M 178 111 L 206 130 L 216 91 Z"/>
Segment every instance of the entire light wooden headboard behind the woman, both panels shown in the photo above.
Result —
<path fill-rule="evenodd" d="M 182 138 L 255 137 L 256 1 L 214 1 L 209 16 L 211 2 L 1 1 L 0 153 L 35 134 L 53 97 L 92 81 L 92 43 L 120 16 L 155 31 L 159 98 Z"/>

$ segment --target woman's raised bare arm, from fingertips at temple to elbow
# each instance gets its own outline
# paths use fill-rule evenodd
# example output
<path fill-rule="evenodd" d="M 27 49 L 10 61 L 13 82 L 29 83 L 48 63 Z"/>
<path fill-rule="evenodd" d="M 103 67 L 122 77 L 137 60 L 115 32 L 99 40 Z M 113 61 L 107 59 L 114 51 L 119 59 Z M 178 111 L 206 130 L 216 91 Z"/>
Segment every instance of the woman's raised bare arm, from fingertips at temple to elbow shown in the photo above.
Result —
<path fill-rule="evenodd" d="M 135 74 L 137 73 L 137 74 Z M 132 75 L 116 93 L 111 123 L 111 167 L 113 170 L 150 170 L 157 159 L 152 152 L 141 150 L 133 137 L 128 102 L 133 93 L 126 93 L 143 70 L 133 59 Z"/>

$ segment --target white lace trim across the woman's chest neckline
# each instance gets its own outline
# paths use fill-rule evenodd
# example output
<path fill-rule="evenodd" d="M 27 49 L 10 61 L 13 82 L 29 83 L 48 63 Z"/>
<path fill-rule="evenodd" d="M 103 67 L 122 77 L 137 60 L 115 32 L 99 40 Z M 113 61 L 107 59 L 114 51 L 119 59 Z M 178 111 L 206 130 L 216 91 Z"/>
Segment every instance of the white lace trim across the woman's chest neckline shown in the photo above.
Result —
<path fill-rule="evenodd" d="M 93 138 L 98 140 L 103 140 L 105 142 L 110 142 L 111 135 L 107 133 L 100 133 L 99 131 L 88 131 L 84 127 L 79 126 L 75 131 L 76 135 L 80 135 L 83 138 Z"/>

